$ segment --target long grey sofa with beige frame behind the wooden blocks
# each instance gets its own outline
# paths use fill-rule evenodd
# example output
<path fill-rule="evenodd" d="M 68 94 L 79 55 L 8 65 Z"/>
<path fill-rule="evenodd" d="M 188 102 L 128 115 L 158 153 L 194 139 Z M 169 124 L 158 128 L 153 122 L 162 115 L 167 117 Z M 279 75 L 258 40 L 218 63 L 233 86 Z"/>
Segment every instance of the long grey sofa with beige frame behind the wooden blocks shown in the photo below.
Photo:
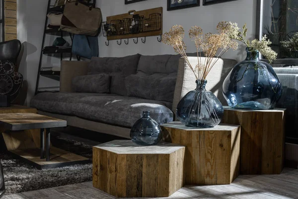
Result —
<path fill-rule="evenodd" d="M 190 60 L 197 64 L 196 57 Z M 224 77 L 235 64 L 235 60 L 220 59 L 209 75 L 207 89 L 222 94 Z M 93 77 L 98 74 L 108 74 L 110 92 L 75 92 L 80 81 L 75 78 L 80 76 L 89 77 L 82 87 L 96 90 L 94 84 L 100 80 L 93 81 Z M 129 138 L 132 125 L 144 110 L 158 123 L 173 121 L 178 101 L 195 86 L 194 75 L 180 55 L 93 57 L 90 62 L 62 61 L 60 92 L 40 93 L 30 105 L 40 114 L 67 120 L 70 126 Z"/>

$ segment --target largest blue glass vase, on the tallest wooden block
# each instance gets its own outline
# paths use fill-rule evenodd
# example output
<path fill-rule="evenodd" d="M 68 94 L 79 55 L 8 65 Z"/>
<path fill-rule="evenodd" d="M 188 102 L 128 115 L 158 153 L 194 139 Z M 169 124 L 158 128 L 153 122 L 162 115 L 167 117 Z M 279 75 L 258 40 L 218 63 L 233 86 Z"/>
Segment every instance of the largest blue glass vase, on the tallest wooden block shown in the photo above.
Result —
<path fill-rule="evenodd" d="M 246 51 L 246 59 L 224 80 L 224 98 L 231 108 L 272 109 L 281 98 L 282 85 L 272 66 L 259 60 L 258 51 Z"/>

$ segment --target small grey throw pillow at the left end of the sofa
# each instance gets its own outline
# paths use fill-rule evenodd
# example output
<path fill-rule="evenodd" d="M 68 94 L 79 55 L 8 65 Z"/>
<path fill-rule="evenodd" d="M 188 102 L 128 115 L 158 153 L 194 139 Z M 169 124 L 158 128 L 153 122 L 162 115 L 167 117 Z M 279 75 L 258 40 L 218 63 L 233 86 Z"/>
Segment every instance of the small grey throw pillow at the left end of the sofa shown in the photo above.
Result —
<path fill-rule="evenodd" d="M 102 73 L 74 77 L 72 89 L 75 93 L 110 93 L 110 75 Z"/>

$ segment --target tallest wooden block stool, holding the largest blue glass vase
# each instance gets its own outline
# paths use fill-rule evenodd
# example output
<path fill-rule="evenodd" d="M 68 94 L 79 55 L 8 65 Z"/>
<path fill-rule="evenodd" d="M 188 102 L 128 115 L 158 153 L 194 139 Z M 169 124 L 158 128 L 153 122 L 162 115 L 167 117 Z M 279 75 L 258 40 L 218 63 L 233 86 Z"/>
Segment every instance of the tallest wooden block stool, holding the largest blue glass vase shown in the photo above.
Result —
<path fill-rule="evenodd" d="M 285 145 L 285 110 L 224 106 L 224 123 L 241 125 L 240 174 L 280 174 Z"/>

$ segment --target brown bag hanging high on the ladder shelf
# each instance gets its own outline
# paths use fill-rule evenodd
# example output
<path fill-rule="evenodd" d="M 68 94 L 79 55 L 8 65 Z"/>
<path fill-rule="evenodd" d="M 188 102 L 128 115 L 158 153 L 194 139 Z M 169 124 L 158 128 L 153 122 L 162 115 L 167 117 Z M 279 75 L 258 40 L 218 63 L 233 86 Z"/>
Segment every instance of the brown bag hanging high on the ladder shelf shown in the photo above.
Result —
<path fill-rule="evenodd" d="M 61 30 L 89 36 L 96 36 L 102 21 L 100 8 L 92 8 L 78 1 L 66 1 Z"/>

